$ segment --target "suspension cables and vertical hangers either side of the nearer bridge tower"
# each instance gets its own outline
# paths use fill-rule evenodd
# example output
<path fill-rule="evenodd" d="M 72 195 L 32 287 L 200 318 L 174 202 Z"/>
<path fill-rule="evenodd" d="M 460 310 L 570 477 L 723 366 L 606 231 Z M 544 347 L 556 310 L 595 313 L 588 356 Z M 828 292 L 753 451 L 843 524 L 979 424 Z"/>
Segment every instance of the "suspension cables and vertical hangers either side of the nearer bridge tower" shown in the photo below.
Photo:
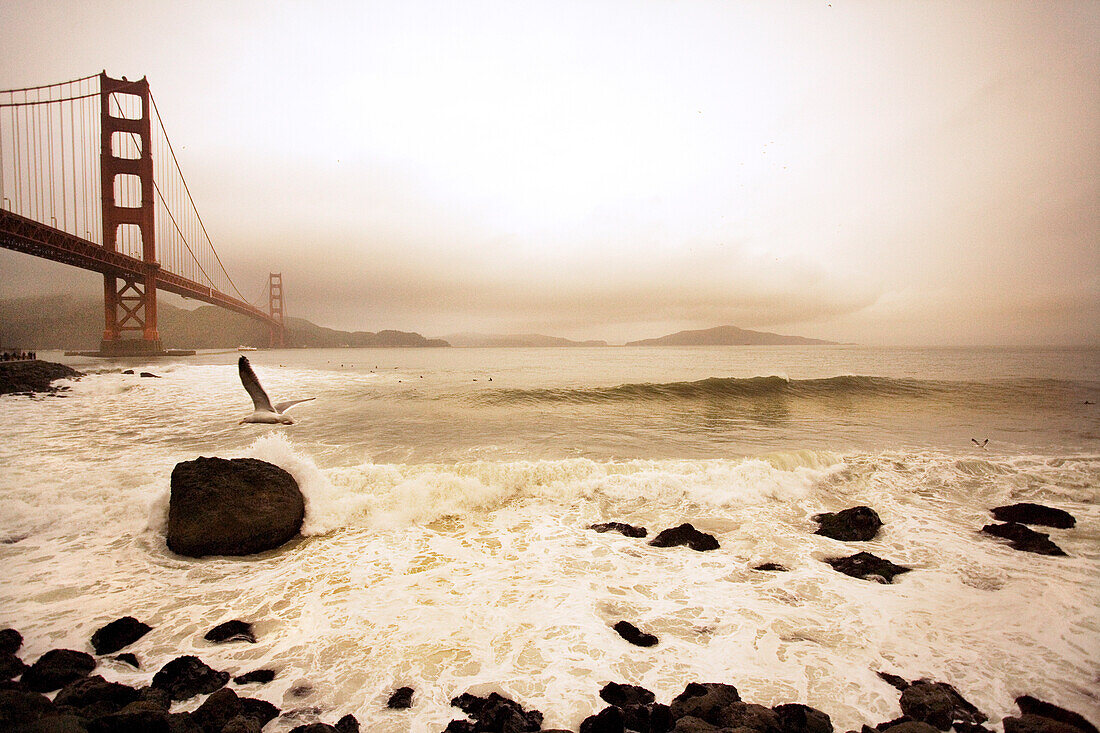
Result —
<path fill-rule="evenodd" d="M 124 158 L 141 157 L 142 151 L 134 132 L 116 132 L 110 141 L 101 139 L 100 91 L 100 75 L 0 90 L 0 208 L 102 245 L 101 145 L 106 143 L 113 155 Z M 141 99 L 133 95 L 111 92 L 109 99 L 112 116 L 140 119 L 144 113 Z M 150 145 L 158 264 L 255 306 L 241 293 L 215 249 L 161 112 L 152 95 L 148 99 L 148 111 L 156 116 L 156 140 Z M 139 178 L 116 176 L 114 200 L 118 206 L 141 206 Z M 116 248 L 142 259 L 140 229 L 121 226 Z"/>

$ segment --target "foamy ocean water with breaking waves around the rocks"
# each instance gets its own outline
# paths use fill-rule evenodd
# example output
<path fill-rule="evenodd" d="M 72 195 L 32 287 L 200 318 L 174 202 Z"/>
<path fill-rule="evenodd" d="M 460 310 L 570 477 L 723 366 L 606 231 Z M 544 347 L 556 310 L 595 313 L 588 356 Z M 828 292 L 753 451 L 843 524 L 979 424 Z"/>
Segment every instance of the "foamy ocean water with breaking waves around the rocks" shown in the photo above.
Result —
<path fill-rule="evenodd" d="M 286 350 L 248 354 L 290 426 L 251 412 L 235 352 L 153 363 L 41 358 L 89 375 L 0 398 L 0 626 L 33 660 L 121 615 L 154 626 L 144 685 L 182 654 L 268 685 L 292 713 L 438 731 L 498 691 L 576 730 L 608 681 L 668 702 L 689 681 L 801 702 L 838 731 L 900 714 L 876 671 L 953 683 L 1000 727 L 1030 693 L 1100 720 L 1100 351 L 769 347 Z M 146 369 L 162 379 L 121 374 Z M 971 438 L 989 438 L 979 448 Z M 163 539 L 173 467 L 255 457 L 293 473 L 304 536 L 251 558 Z M 1034 501 L 1067 557 L 978 530 Z M 857 504 L 868 543 L 815 536 Z M 691 522 L 711 553 L 587 529 Z M 867 550 L 893 584 L 823 560 Z M 779 562 L 789 572 L 751 568 Z M 255 624 L 257 644 L 211 626 Z M 651 648 L 610 626 L 656 634 Z M 416 689 L 405 711 L 385 708 Z M 201 698 L 183 703 L 196 707 Z"/>

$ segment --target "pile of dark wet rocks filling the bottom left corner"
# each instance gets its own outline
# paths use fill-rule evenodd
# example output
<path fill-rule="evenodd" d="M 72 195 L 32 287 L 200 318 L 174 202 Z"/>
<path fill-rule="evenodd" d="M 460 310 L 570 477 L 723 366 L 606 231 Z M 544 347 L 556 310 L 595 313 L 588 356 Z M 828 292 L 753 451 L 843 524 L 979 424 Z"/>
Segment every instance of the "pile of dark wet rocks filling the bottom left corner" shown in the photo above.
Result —
<path fill-rule="evenodd" d="M 91 637 L 96 654 L 106 656 L 133 644 L 152 630 L 132 616 L 112 621 Z M 255 643 L 248 622 L 219 624 L 205 635 L 208 641 Z M 164 665 L 146 687 L 109 682 L 92 675 L 98 660 L 86 652 L 51 649 L 28 666 L 16 656 L 22 635 L 0 631 L 0 730 L 26 733 L 260 733 L 282 713 L 272 703 L 241 697 L 226 687 L 228 671 L 213 669 L 195 656 L 182 656 Z M 133 654 L 114 659 L 140 668 Z M 18 679 L 16 679 L 18 678 Z M 273 669 L 257 669 L 233 677 L 237 685 L 265 683 Z M 46 693 L 57 691 L 51 700 Z M 391 698 L 391 707 L 408 707 L 411 689 Z M 172 712 L 173 702 L 207 694 L 193 712 Z M 288 718 L 296 715 L 294 711 Z M 298 725 L 292 733 L 356 733 L 359 722 L 344 715 L 336 724 Z"/>

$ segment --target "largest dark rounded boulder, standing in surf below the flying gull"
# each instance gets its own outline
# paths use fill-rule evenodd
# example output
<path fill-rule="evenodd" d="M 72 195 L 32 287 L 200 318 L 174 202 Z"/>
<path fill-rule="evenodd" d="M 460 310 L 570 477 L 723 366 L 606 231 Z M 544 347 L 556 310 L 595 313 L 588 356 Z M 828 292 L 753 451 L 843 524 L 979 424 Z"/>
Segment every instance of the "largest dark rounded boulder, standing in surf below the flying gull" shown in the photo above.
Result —
<path fill-rule="evenodd" d="M 179 555 L 252 555 L 298 534 L 306 503 L 277 466 L 255 458 L 198 458 L 172 471 L 168 549 Z"/>

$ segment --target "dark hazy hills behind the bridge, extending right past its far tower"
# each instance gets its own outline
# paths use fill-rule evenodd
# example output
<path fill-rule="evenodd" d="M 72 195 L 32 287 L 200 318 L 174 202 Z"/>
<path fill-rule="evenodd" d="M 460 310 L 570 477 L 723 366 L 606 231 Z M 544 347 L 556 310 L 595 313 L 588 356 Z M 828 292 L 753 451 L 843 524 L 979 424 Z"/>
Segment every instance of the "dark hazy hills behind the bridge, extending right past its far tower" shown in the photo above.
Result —
<path fill-rule="evenodd" d="M 267 344 L 267 327 L 217 306 L 194 310 L 157 303 L 157 328 L 169 349 L 235 349 Z M 89 297 L 52 295 L 0 300 L 0 346 L 21 349 L 99 348 L 103 304 Z M 385 330 L 338 331 L 304 318 L 287 318 L 287 346 L 293 347 L 447 347 L 441 339 Z"/>

